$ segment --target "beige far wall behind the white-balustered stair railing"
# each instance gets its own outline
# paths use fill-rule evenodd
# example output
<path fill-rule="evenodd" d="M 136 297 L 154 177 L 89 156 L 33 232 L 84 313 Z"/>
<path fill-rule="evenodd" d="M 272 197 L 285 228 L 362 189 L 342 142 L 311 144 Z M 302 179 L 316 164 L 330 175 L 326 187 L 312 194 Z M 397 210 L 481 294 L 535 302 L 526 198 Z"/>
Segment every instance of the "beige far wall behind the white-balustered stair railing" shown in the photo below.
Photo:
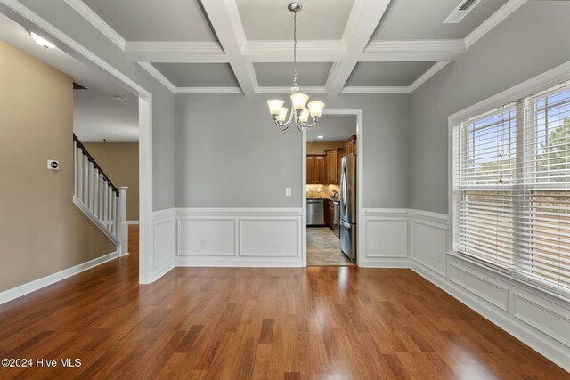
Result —
<path fill-rule="evenodd" d="M 95 158 L 110 182 L 126 186 L 126 220 L 139 220 L 139 144 L 138 142 L 89 142 L 89 154 Z"/>

